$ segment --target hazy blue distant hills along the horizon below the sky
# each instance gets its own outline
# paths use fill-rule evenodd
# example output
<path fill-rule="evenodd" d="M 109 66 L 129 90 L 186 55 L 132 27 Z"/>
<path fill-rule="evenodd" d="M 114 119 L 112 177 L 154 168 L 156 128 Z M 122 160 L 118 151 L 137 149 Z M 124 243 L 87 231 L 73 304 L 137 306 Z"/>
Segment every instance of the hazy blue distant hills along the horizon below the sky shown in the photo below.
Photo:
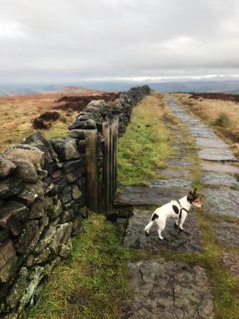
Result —
<path fill-rule="evenodd" d="M 174 82 L 79 82 L 71 85 L 69 83 L 61 85 L 0 85 L 1 96 L 11 95 L 31 95 L 36 93 L 62 93 L 70 95 L 73 93 L 88 92 L 88 90 L 100 91 L 124 91 L 132 86 L 148 84 L 153 90 L 161 93 L 169 92 L 197 92 L 197 93 L 239 93 L 239 80 L 188 80 Z"/>

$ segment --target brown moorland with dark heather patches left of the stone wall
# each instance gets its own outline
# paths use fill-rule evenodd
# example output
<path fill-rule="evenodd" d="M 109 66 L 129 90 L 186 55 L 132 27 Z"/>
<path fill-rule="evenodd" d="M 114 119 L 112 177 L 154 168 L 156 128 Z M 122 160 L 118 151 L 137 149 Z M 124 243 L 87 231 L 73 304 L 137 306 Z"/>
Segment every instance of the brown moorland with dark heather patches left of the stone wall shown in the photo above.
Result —
<path fill-rule="evenodd" d="M 69 97 L 65 95 L 68 93 Z M 103 99 L 105 95 L 110 100 L 115 99 L 117 93 L 83 88 L 74 91 L 71 88 L 58 93 L 0 97 L 0 151 L 21 142 L 36 129 L 44 130 L 46 137 L 65 136 L 79 110 L 85 108 L 90 100 Z M 70 106 L 70 99 L 75 99 L 73 107 Z M 80 100 L 84 103 L 79 102 Z"/>

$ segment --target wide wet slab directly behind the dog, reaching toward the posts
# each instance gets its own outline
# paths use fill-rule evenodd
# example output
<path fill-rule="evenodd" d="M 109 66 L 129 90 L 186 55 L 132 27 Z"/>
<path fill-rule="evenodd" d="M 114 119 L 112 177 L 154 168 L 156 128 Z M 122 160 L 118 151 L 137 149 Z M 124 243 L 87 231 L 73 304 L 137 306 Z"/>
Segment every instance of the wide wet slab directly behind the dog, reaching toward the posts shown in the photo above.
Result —
<path fill-rule="evenodd" d="M 120 187 L 115 203 L 131 205 L 163 205 L 172 199 L 184 197 L 185 190 L 152 187 Z"/>

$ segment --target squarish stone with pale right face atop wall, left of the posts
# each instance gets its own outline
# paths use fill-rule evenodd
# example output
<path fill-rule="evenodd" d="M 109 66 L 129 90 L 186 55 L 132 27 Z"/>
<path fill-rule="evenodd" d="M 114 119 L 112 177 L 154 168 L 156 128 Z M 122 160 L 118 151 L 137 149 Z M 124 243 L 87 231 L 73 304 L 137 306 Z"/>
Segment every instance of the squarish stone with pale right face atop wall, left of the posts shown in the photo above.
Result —
<path fill-rule="evenodd" d="M 65 139 L 57 140 L 52 139 L 51 145 L 62 161 L 68 161 L 80 158 L 80 153 L 77 150 L 75 140 Z"/>

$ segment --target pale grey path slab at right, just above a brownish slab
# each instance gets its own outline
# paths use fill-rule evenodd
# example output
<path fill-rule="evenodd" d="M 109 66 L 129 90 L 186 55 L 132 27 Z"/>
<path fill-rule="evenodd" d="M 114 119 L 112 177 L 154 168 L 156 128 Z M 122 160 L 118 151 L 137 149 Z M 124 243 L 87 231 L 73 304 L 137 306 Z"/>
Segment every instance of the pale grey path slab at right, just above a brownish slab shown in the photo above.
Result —
<path fill-rule="evenodd" d="M 201 158 L 201 160 L 208 161 L 238 161 L 231 150 L 226 150 L 224 148 L 205 147 L 203 150 L 198 152 L 198 156 Z"/>

